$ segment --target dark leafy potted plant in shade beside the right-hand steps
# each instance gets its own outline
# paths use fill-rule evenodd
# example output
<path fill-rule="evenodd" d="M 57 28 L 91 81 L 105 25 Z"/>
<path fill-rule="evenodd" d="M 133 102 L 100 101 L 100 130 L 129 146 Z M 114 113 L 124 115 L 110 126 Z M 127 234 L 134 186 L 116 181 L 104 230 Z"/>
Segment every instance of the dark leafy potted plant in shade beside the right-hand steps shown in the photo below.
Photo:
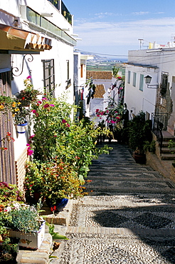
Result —
<path fill-rule="evenodd" d="M 129 121 L 129 147 L 132 148 L 136 163 L 146 163 L 144 142 L 152 141 L 152 123 L 145 120 L 145 113 L 140 111 Z"/>

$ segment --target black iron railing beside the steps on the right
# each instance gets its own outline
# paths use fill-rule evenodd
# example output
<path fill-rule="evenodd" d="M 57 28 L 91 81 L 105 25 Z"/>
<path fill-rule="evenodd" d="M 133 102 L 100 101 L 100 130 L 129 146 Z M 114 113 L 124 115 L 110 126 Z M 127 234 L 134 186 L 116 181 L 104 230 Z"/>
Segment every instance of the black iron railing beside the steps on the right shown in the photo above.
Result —
<path fill-rule="evenodd" d="M 168 117 L 168 113 L 152 113 L 152 131 L 160 141 L 160 153 L 164 139 L 162 131 L 167 129 Z"/>

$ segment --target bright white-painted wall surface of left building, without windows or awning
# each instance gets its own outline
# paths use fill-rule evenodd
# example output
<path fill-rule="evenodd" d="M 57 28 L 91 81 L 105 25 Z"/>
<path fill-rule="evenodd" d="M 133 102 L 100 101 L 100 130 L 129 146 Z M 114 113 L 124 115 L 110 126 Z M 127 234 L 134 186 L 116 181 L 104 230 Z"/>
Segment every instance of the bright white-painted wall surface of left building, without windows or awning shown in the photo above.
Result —
<path fill-rule="evenodd" d="M 23 72 L 21 76 L 14 76 L 12 81 L 12 93 L 21 91 L 24 88 L 23 80 L 26 79 L 28 75 L 31 75 L 33 87 L 35 89 L 43 90 L 43 63 L 42 59 L 54 59 L 55 65 L 55 97 L 60 96 L 63 92 L 68 92 L 68 102 L 73 103 L 73 44 L 70 44 L 64 40 L 54 37 L 52 34 L 48 34 L 47 31 L 40 29 L 33 24 L 28 23 L 26 20 L 26 6 L 36 11 L 38 14 L 41 13 L 52 13 L 53 17 L 46 17 L 55 26 L 63 29 L 69 35 L 73 34 L 73 26 L 71 26 L 68 21 L 60 14 L 58 9 L 47 0 L 0 0 L 0 23 L 7 24 L 9 26 L 14 26 L 14 18 L 18 17 L 18 28 L 32 31 L 52 39 L 52 49 L 49 51 L 41 51 L 40 54 L 33 54 L 33 61 L 29 62 L 31 59 L 30 55 L 27 55 L 24 64 Z M 6 67 L 18 67 L 18 73 L 22 69 L 23 54 L 12 54 L 1 55 L 0 54 L 0 70 Z M 71 79 L 71 86 L 65 89 L 66 81 L 68 79 L 67 63 L 69 61 L 69 73 Z M 17 74 L 17 73 L 16 73 Z M 26 143 L 28 142 L 28 133 L 16 135 L 14 128 L 14 146 L 15 146 L 15 158 L 17 159 L 24 148 L 26 148 Z"/>

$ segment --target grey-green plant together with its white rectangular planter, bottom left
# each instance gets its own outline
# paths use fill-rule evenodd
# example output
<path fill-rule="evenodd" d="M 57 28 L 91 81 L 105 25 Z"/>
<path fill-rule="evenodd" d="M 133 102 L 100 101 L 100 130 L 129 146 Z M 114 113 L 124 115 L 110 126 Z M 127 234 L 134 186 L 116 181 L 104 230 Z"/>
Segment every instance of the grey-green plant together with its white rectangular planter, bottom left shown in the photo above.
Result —
<path fill-rule="evenodd" d="M 24 203 L 11 203 L 4 207 L 1 217 L 9 231 L 9 237 L 19 238 L 24 248 L 39 248 L 45 233 L 45 221 L 38 216 L 36 208 Z"/>

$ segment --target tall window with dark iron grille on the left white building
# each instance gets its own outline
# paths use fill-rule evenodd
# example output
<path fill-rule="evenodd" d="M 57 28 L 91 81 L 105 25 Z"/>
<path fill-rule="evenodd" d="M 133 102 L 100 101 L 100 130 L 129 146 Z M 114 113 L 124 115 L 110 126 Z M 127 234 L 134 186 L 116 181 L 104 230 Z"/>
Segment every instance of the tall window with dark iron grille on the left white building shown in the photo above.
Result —
<path fill-rule="evenodd" d="M 42 60 L 43 62 L 43 85 L 46 93 L 55 96 L 55 72 L 54 59 Z"/>

